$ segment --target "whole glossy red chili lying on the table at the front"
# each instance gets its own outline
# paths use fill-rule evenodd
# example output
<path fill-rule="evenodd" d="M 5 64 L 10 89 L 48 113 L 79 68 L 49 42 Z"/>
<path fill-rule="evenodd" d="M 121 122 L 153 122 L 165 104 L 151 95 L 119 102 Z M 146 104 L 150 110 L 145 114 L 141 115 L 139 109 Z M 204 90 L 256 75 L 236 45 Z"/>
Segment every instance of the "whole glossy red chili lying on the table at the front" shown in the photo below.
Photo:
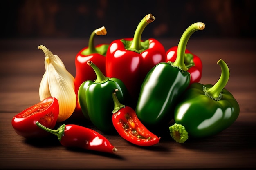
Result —
<path fill-rule="evenodd" d="M 117 148 L 98 132 L 79 125 L 61 125 L 57 130 L 52 130 L 36 122 L 39 128 L 52 133 L 58 137 L 60 143 L 65 147 L 83 148 L 99 152 L 114 153 Z"/>

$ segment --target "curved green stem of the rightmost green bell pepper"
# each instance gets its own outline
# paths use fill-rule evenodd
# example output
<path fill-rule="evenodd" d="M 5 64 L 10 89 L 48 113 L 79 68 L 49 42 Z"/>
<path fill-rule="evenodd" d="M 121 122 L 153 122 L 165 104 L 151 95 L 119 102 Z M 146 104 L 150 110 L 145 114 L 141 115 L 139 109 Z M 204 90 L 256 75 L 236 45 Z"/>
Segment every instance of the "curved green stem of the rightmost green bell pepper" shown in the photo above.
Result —
<path fill-rule="evenodd" d="M 229 67 L 227 64 L 222 59 L 220 59 L 217 64 L 219 64 L 221 68 L 220 79 L 211 88 L 206 89 L 208 95 L 214 98 L 218 98 L 220 96 L 221 91 L 229 81 Z"/>

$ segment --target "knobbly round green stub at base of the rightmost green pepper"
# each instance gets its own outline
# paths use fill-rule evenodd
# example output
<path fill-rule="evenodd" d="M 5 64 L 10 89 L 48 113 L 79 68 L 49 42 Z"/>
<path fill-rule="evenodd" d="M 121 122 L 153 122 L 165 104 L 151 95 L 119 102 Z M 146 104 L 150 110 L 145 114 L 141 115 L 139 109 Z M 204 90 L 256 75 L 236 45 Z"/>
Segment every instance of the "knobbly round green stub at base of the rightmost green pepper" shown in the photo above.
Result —
<path fill-rule="evenodd" d="M 186 128 L 181 124 L 173 124 L 169 127 L 171 137 L 178 143 L 184 143 L 189 139 Z"/>

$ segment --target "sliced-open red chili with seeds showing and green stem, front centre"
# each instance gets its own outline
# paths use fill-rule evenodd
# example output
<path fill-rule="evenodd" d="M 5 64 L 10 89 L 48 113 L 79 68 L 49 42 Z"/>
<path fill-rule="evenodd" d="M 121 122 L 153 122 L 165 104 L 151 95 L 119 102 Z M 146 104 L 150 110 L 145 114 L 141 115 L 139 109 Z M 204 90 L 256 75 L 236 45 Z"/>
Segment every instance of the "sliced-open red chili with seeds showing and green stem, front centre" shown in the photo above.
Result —
<path fill-rule="evenodd" d="M 157 137 L 150 132 L 139 121 L 135 111 L 128 106 L 121 104 L 116 96 L 118 89 L 113 92 L 114 110 L 112 122 L 121 137 L 139 146 L 152 146 L 159 142 L 160 137 Z"/>

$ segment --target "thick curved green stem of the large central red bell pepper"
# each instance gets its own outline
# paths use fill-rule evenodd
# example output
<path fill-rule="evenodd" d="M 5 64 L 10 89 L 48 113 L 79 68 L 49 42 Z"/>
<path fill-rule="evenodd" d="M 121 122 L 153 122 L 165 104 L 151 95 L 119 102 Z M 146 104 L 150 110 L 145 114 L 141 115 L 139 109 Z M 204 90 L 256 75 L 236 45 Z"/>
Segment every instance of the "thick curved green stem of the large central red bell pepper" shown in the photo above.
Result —
<path fill-rule="evenodd" d="M 146 28 L 146 26 L 153 22 L 155 20 L 155 17 L 154 15 L 152 14 L 148 14 L 146 15 L 142 20 L 141 22 L 139 22 L 136 30 L 135 30 L 135 33 L 134 33 L 134 36 L 133 36 L 133 40 L 132 40 L 132 44 L 130 46 L 130 49 L 137 49 L 137 50 L 140 50 L 140 49 L 143 49 L 143 47 L 141 46 L 141 35 L 142 35 L 142 32 L 144 31 L 144 29 Z"/>

